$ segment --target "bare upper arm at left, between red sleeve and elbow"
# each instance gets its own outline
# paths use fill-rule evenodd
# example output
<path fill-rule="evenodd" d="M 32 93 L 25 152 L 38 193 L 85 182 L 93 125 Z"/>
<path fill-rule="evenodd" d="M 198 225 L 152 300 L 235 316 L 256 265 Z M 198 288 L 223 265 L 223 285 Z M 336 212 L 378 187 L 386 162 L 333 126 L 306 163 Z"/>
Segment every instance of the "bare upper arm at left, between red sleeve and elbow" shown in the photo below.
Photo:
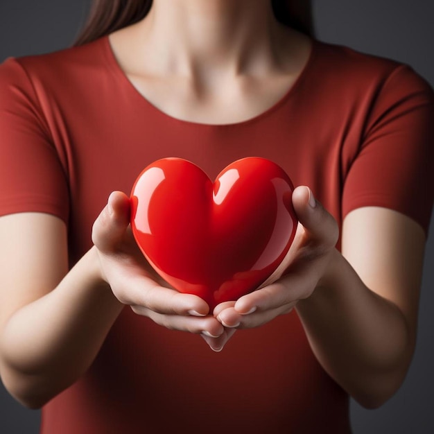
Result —
<path fill-rule="evenodd" d="M 0 327 L 58 285 L 68 270 L 67 227 L 50 214 L 0 217 Z"/>

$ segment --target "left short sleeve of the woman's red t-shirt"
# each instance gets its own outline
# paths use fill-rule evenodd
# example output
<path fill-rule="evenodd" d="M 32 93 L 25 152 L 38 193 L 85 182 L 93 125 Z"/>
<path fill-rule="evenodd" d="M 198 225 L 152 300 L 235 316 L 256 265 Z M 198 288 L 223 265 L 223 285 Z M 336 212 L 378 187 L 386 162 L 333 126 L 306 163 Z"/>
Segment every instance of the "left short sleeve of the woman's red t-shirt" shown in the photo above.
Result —
<path fill-rule="evenodd" d="M 67 222 L 68 191 L 31 78 L 8 58 L 0 64 L 0 216 L 39 211 Z"/>

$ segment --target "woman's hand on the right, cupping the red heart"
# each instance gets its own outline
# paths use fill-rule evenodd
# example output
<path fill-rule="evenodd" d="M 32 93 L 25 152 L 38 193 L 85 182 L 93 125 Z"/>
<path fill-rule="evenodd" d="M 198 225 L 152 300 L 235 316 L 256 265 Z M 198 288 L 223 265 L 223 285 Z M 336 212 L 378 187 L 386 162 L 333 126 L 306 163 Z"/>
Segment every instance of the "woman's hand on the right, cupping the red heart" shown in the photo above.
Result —
<path fill-rule="evenodd" d="M 338 224 L 306 186 L 294 190 L 293 206 L 299 225 L 293 244 L 276 272 L 261 288 L 214 309 L 214 316 L 225 327 L 225 333 L 219 338 L 204 336 L 214 351 L 221 351 L 236 329 L 259 327 L 289 313 L 326 278 L 329 262 L 336 254 Z"/>

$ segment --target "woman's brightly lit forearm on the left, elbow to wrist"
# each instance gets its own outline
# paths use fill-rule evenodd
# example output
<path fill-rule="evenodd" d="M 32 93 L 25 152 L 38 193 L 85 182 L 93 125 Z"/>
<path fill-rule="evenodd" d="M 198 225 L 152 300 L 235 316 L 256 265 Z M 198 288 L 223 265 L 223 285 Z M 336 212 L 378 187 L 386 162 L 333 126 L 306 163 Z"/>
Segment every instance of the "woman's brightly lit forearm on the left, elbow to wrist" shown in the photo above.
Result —
<path fill-rule="evenodd" d="M 0 336 L 6 387 L 32 407 L 67 388 L 92 363 L 122 306 L 89 250 L 54 290 L 8 319 Z"/>

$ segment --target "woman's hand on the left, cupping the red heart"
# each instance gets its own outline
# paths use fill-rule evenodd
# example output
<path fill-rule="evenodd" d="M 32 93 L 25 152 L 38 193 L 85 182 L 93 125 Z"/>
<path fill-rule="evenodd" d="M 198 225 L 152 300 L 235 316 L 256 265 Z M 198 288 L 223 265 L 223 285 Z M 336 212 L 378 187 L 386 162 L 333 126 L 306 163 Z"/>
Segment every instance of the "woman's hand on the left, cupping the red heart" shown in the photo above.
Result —
<path fill-rule="evenodd" d="M 209 306 L 196 295 L 171 288 L 150 266 L 132 236 L 130 202 L 114 191 L 96 218 L 92 228 L 101 268 L 101 277 L 119 302 L 168 329 L 201 333 L 216 338 L 224 327 L 212 315 Z"/>

